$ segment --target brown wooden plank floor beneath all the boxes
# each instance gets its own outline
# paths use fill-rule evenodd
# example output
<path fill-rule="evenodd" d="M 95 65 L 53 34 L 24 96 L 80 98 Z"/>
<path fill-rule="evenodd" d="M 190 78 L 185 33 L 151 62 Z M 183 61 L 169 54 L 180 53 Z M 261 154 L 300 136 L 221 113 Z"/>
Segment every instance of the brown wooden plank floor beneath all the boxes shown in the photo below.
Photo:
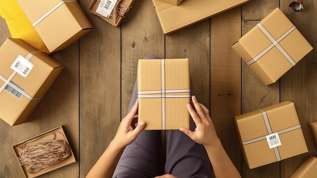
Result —
<path fill-rule="evenodd" d="M 286 13 L 317 48 L 317 2 L 305 1 L 295 13 L 291 0 L 250 3 L 164 35 L 149 0 L 135 1 L 121 27 L 87 12 L 95 29 L 53 58 L 65 69 L 25 124 L 0 120 L 0 177 L 23 177 L 11 145 L 63 125 L 77 162 L 40 177 L 85 177 L 113 138 L 127 112 L 136 80 L 137 61 L 152 54 L 190 59 L 192 90 L 211 111 L 217 133 L 243 177 L 290 177 L 308 154 L 250 170 L 241 154 L 233 117 L 284 100 L 295 102 L 309 154 L 317 156 L 308 123 L 317 120 L 316 49 L 280 81 L 265 86 L 232 50 L 231 44 L 276 7 Z M 0 43 L 10 37 L 0 20 Z M 165 140 L 165 133 L 162 133 Z M 164 143 L 164 141 L 163 141 Z M 162 145 L 164 148 L 165 145 Z"/>

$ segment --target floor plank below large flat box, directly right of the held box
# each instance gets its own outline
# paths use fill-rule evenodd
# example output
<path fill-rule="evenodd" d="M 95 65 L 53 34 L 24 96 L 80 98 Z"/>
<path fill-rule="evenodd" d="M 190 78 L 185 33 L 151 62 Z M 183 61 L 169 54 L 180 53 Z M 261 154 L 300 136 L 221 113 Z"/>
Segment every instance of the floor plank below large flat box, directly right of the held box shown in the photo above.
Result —
<path fill-rule="evenodd" d="M 192 94 L 210 108 L 210 19 L 166 35 L 165 49 L 167 59 L 189 59 Z"/>

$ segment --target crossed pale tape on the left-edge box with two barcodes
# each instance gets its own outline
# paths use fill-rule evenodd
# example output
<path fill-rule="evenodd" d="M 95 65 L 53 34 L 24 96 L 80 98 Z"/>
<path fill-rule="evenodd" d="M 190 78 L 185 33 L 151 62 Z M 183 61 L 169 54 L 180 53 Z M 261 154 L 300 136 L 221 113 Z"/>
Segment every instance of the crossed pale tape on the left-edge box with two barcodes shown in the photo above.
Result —
<path fill-rule="evenodd" d="M 29 52 L 24 58 L 26 60 L 31 60 L 31 58 L 35 55 L 36 52 Z M 9 85 L 10 87 L 14 88 L 15 90 L 17 90 L 18 92 L 20 92 L 23 96 L 25 96 L 28 100 L 30 101 L 34 101 L 34 100 L 39 100 L 42 99 L 43 97 L 32 97 L 29 94 L 27 94 L 25 91 L 21 90 L 19 87 L 15 86 L 14 84 L 10 83 L 10 81 L 13 79 L 13 77 L 17 74 L 17 72 L 15 72 L 13 70 L 13 72 L 11 73 L 11 75 L 9 76 L 8 79 L 6 79 L 5 77 L 3 77 L 2 75 L 0 75 L 0 80 L 2 80 L 4 82 L 4 84 L 0 87 L 0 93 L 5 89 L 5 87 L 7 85 Z"/>

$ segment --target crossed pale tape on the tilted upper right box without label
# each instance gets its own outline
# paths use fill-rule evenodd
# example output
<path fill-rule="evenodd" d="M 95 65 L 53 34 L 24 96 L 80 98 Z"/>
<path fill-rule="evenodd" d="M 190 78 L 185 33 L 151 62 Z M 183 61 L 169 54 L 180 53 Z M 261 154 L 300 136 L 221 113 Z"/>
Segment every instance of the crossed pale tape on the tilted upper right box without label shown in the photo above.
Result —
<path fill-rule="evenodd" d="M 287 30 L 278 40 L 275 40 L 273 36 L 266 30 L 266 28 L 261 24 L 258 23 L 257 26 L 259 29 L 266 35 L 266 37 L 272 42 L 270 46 L 265 48 L 262 52 L 256 55 L 254 58 L 247 62 L 248 65 L 253 64 L 257 60 L 259 60 L 264 54 L 266 54 L 269 50 L 271 50 L 274 46 L 283 54 L 283 56 L 294 66 L 296 62 L 292 59 L 292 57 L 287 54 L 287 52 L 282 48 L 279 44 L 287 35 L 289 35 L 292 31 L 296 29 L 295 26 L 292 26 L 289 30 Z"/>

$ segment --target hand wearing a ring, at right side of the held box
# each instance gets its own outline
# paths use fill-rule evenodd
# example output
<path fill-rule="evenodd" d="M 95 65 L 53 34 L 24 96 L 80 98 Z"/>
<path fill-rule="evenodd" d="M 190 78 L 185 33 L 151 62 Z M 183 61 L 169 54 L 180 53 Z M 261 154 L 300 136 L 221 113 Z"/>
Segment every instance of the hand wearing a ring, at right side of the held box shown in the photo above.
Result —
<path fill-rule="evenodd" d="M 188 135 L 192 140 L 196 141 L 205 147 L 213 147 L 219 143 L 213 122 L 210 119 L 209 111 L 203 104 L 199 103 L 195 96 L 191 97 L 195 110 L 190 104 L 187 104 L 187 109 L 196 124 L 194 131 L 187 128 L 181 128 L 180 131 Z M 208 114 L 204 114 L 207 112 Z"/>

